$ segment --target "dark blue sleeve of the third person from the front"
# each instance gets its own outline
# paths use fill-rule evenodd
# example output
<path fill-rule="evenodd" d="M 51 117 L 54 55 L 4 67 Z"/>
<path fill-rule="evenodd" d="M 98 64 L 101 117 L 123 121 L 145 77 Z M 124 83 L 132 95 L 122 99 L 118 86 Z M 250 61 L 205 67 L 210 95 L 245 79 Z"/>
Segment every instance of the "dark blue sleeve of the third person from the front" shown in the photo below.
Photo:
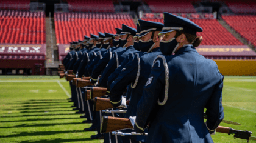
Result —
<path fill-rule="evenodd" d="M 115 71 L 115 69 L 116 69 L 116 58 L 112 58 L 106 65 L 101 75 L 101 78 L 99 79 L 99 87 L 107 87 L 108 76 L 110 76 L 111 73 Z"/>

